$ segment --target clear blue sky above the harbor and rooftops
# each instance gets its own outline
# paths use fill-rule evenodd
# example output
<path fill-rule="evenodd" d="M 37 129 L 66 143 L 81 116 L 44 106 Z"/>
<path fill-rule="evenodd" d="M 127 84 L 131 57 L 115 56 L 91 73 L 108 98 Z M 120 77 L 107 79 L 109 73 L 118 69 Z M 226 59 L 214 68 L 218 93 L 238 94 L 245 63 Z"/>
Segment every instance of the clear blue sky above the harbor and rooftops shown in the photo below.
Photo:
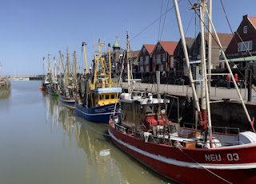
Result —
<path fill-rule="evenodd" d="M 198 18 L 189 10 L 190 2 L 179 0 L 186 37 L 198 34 Z M 255 0 L 222 0 L 233 31 L 242 16 L 256 17 Z M 93 59 L 98 39 L 113 45 L 116 37 L 126 47 L 126 28 L 130 47 L 140 50 L 144 44 L 179 41 L 180 34 L 173 0 L 1 0 L 0 2 L 0 75 L 41 75 L 43 57 L 50 54 L 60 61 L 59 51 L 77 53 L 84 68 L 82 42 L 86 42 L 88 65 Z M 166 10 L 169 10 L 166 13 Z M 162 12 L 162 17 L 160 17 Z M 165 16 L 166 13 L 166 16 Z M 231 33 L 221 0 L 213 0 L 213 22 L 218 33 Z M 1 68 L 1 66 L 0 66 Z"/>

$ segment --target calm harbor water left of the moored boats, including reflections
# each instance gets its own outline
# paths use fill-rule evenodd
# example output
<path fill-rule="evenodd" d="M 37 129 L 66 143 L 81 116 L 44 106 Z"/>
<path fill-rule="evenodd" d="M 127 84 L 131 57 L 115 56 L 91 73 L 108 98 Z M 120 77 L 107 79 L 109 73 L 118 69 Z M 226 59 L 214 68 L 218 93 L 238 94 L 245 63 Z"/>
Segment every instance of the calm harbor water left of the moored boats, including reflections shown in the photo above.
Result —
<path fill-rule="evenodd" d="M 119 149 L 108 124 L 39 89 L 41 81 L 12 81 L 0 96 L 0 183 L 175 183 Z"/>

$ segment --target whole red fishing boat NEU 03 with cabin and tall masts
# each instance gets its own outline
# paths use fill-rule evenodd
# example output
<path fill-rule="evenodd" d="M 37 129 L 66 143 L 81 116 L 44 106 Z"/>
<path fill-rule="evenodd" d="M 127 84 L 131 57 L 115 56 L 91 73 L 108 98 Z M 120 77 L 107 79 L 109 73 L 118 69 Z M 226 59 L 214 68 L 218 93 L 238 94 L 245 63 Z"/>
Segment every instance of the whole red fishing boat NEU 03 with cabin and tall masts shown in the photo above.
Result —
<path fill-rule="evenodd" d="M 186 45 L 183 34 L 178 2 L 174 0 L 182 45 Z M 204 12 L 206 2 L 198 3 L 196 9 Z M 204 9 L 204 10 L 203 10 Z M 207 10 L 206 10 L 207 13 Z M 209 17 L 210 24 L 211 22 Z M 201 27 L 203 27 L 201 23 Z M 182 183 L 256 183 L 256 134 L 254 119 L 246 111 L 246 106 L 237 89 L 242 108 L 253 131 L 239 131 L 231 127 L 214 127 L 211 124 L 210 100 L 208 96 L 206 54 L 202 29 L 202 96 L 201 104 L 195 92 L 194 80 L 189 67 L 189 77 L 193 98 L 198 111 L 198 129 L 180 126 L 179 119 L 170 121 L 166 115 L 166 105 L 170 100 L 133 96 L 132 92 L 122 93 L 119 103 L 122 114 L 110 119 L 109 134 L 114 143 L 123 151 L 138 159 L 150 169 L 176 182 Z M 217 37 L 218 35 L 214 30 Z M 190 66 L 186 46 L 183 46 L 186 65 Z M 222 51 L 223 56 L 225 53 Z M 234 76 L 226 60 L 232 80 Z M 157 76 L 159 76 L 158 74 Z M 237 131 L 237 132 L 235 132 Z"/>

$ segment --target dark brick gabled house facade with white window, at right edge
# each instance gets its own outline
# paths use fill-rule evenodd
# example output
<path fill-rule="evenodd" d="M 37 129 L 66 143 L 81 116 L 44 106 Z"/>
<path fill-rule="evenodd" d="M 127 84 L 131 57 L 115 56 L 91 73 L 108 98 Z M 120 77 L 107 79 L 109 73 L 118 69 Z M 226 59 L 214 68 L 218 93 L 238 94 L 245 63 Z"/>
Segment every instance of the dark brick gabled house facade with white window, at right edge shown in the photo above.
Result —
<path fill-rule="evenodd" d="M 226 49 L 226 56 L 242 68 L 256 57 L 256 18 L 244 15 Z"/>

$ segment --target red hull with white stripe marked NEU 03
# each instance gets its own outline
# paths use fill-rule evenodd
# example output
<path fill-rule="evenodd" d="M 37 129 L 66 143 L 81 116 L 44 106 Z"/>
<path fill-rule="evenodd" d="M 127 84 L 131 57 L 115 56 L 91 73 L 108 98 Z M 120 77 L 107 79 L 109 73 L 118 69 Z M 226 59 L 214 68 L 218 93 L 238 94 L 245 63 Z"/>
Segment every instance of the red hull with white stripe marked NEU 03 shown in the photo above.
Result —
<path fill-rule="evenodd" d="M 152 170 L 183 183 L 256 183 L 256 145 L 218 149 L 146 143 L 110 126 L 118 147 Z"/>

